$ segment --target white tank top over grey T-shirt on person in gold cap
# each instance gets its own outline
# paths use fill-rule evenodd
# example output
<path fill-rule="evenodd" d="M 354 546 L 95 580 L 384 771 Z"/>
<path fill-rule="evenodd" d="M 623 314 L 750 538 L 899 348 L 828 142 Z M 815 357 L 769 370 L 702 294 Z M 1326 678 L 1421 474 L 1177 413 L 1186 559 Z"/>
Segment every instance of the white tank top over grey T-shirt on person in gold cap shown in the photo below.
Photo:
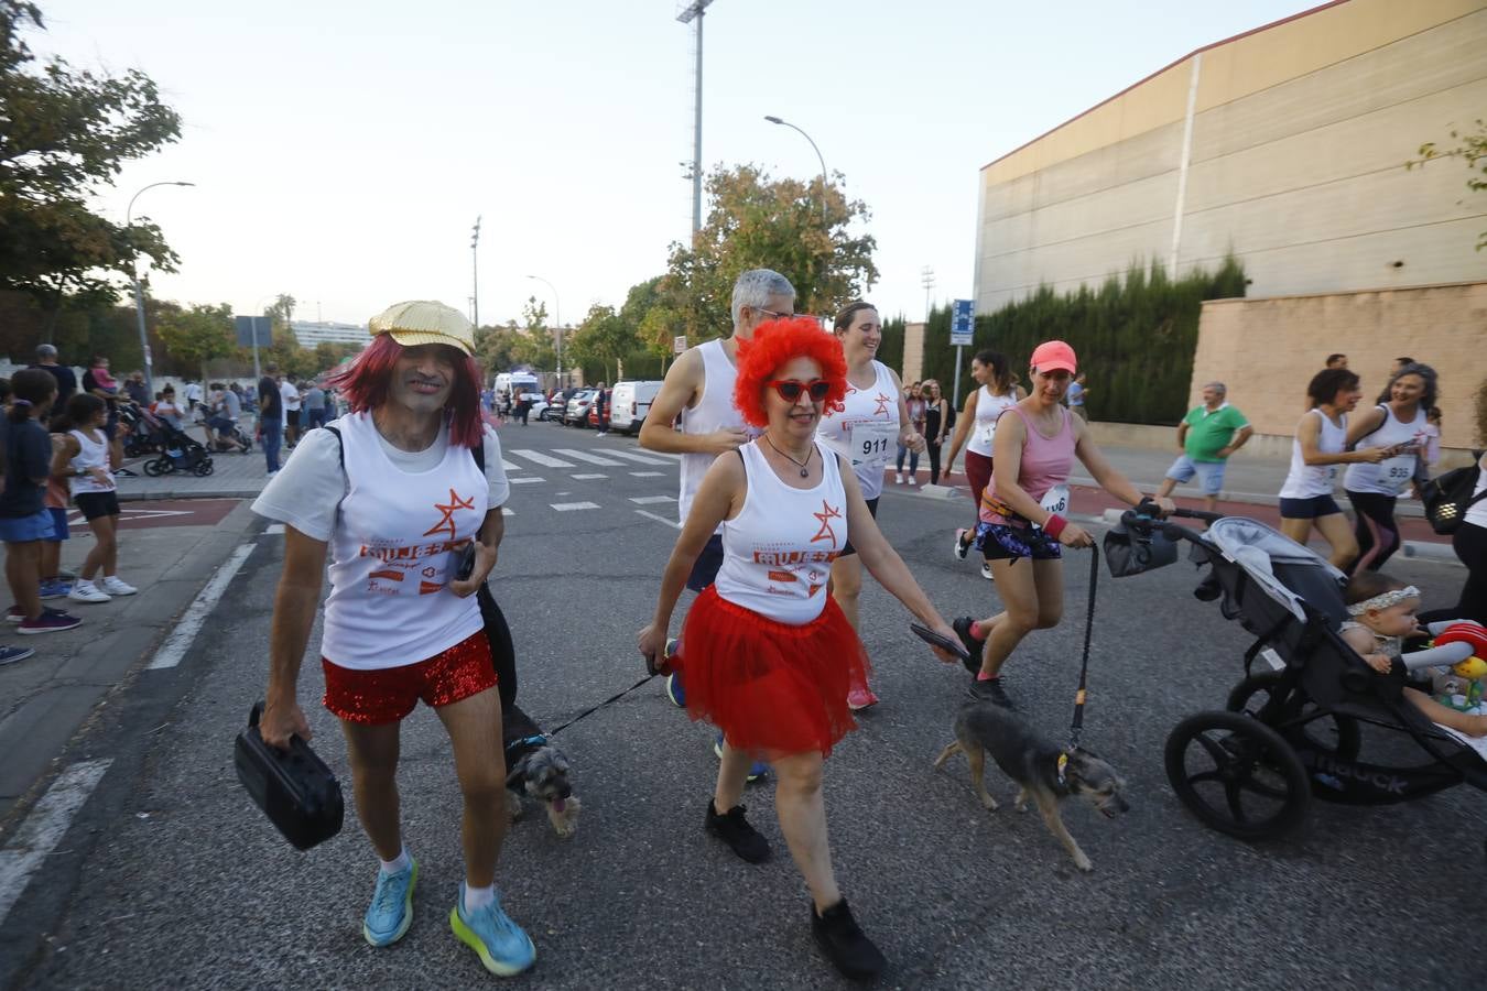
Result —
<path fill-rule="evenodd" d="M 346 495 L 330 535 L 321 654 L 379 670 L 428 660 L 477 633 L 480 605 L 448 588 L 457 544 L 485 522 L 489 483 L 468 447 L 430 471 L 388 459 L 367 413 L 342 416 Z"/>

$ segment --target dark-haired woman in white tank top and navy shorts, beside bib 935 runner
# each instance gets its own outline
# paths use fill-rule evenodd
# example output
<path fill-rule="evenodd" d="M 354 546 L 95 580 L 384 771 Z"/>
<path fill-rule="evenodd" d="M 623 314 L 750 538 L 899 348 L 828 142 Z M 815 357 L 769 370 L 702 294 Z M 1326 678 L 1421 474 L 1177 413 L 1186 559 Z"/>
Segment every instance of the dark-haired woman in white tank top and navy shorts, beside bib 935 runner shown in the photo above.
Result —
<path fill-rule="evenodd" d="M 1280 532 L 1306 544 L 1315 526 L 1332 547 L 1332 566 L 1343 571 L 1358 557 L 1358 541 L 1332 498 L 1337 467 L 1378 464 L 1389 453 L 1384 447 L 1346 450 L 1347 415 L 1362 394 L 1358 376 L 1347 368 L 1323 368 L 1312 376 L 1307 383 L 1312 409 L 1297 423 L 1291 469 L 1280 486 Z"/>

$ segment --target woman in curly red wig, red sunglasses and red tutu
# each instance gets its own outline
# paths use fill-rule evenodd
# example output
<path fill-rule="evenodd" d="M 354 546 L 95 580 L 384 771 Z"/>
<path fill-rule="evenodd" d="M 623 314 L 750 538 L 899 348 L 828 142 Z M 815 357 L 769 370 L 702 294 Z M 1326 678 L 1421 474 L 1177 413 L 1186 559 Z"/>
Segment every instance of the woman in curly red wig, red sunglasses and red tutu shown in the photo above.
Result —
<path fill-rule="evenodd" d="M 723 568 L 687 614 L 684 655 L 669 658 L 686 673 L 687 713 L 724 735 L 706 829 L 744 860 L 769 857 L 739 804 L 749 762 L 769 761 L 779 829 L 810 888 L 812 932 L 839 970 L 865 978 L 883 957 L 837 888 L 821 795 L 824 759 L 855 728 L 848 688 L 867 676 L 862 643 L 827 594 L 848 536 L 873 578 L 920 623 L 955 633 L 877 530 L 852 468 L 815 440 L 824 404 L 845 394 L 842 345 L 813 319 L 769 321 L 739 342 L 733 401 L 763 435 L 708 469 L 639 649 L 654 667 L 691 563 L 721 523 Z"/>

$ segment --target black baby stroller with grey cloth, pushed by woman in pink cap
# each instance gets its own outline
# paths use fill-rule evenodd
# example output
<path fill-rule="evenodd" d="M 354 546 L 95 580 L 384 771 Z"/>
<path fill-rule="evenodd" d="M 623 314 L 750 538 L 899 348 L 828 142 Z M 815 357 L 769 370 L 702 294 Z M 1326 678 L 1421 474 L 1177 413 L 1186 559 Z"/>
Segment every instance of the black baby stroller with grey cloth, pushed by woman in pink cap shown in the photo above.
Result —
<path fill-rule="evenodd" d="M 1225 709 L 1188 716 L 1167 735 L 1167 780 L 1188 811 L 1231 836 L 1271 839 L 1301 825 L 1313 796 L 1386 805 L 1462 782 L 1487 790 L 1487 761 L 1426 719 L 1399 680 L 1375 673 L 1338 634 L 1347 615 L 1343 572 L 1255 520 L 1193 510 L 1176 516 L 1210 527 L 1199 533 L 1127 511 L 1105 538 L 1112 571 L 1123 554 L 1141 557 L 1151 541 L 1158 553 L 1145 557 L 1169 563 L 1176 554 L 1161 551 L 1188 541 L 1191 559 L 1213 568 L 1224 617 L 1255 636 L 1245 679 Z M 1465 660 L 1471 651 L 1462 648 L 1407 654 L 1405 667 Z M 1261 670 L 1257 658 L 1264 658 Z M 1428 759 L 1405 767 L 1358 759 L 1364 724 L 1405 734 Z"/>

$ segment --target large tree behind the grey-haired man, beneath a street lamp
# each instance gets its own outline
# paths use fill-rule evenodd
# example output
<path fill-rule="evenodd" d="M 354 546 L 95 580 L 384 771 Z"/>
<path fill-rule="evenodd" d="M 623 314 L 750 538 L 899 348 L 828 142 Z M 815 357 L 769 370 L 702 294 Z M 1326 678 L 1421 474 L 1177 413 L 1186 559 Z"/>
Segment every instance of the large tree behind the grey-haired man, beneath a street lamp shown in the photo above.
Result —
<path fill-rule="evenodd" d="M 854 236 L 871 218 L 867 204 L 848 201 L 842 174 L 822 186 L 770 180 L 754 165 L 718 166 L 706 181 L 711 209 L 693 244 L 672 244 L 660 284 L 693 340 L 717 337 L 732 327 L 733 282 L 746 269 L 775 269 L 796 287 L 796 309 L 834 313 L 877 281 L 876 239 Z"/>

